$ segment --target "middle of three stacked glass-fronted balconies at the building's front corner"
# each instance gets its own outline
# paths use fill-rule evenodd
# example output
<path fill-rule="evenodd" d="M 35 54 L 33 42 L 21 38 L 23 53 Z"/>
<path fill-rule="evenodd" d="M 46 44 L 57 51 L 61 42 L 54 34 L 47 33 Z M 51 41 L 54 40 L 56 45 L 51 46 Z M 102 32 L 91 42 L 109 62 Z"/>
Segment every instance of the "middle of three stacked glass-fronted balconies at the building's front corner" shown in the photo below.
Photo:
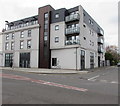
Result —
<path fill-rule="evenodd" d="M 80 27 L 72 27 L 65 29 L 65 35 L 79 35 Z"/>

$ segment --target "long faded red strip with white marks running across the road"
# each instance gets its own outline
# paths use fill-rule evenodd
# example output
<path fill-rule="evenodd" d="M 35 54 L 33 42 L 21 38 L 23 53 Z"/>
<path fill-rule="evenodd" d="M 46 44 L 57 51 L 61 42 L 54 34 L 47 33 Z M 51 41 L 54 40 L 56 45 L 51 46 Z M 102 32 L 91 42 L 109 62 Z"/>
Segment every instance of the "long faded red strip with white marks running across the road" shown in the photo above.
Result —
<path fill-rule="evenodd" d="M 76 91 L 82 91 L 82 92 L 88 91 L 88 89 L 85 89 L 85 88 L 78 88 L 78 87 L 74 87 L 74 86 L 63 85 L 63 84 L 54 83 L 54 82 L 48 82 L 48 81 L 44 81 L 44 80 L 36 80 L 36 79 L 27 78 L 27 77 L 18 76 L 18 75 L 12 75 L 12 74 L 0 74 L 0 77 L 16 79 L 16 80 L 25 80 L 25 81 L 38 83 L 38 84 L 61 87 L 61 88 L 72 89 L 72 90 L 76 90 Z"/>

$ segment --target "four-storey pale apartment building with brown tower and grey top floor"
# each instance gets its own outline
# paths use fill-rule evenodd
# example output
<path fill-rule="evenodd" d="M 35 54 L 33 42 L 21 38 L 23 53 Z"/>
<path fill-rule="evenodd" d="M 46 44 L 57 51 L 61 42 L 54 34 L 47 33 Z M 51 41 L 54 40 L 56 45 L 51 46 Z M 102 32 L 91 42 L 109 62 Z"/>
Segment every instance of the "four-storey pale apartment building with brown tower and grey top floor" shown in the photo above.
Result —
<path fill-rule="evenodd" d="M 6 23 L 4 66 L 83 70 L 103 66 L 104 54 L 104 31 L 82 6 Z"/>

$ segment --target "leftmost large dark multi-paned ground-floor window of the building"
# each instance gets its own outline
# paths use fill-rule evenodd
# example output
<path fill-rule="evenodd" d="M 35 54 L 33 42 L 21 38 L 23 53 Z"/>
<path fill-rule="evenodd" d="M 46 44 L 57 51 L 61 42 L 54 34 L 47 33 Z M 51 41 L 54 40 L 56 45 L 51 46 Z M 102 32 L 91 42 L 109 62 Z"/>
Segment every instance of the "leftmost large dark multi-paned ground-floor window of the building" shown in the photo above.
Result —
<path fill-rule="evenodd" d="M 12 67 L 13 65 L 13 53 L 5 54 L 5 67 Z"/>

